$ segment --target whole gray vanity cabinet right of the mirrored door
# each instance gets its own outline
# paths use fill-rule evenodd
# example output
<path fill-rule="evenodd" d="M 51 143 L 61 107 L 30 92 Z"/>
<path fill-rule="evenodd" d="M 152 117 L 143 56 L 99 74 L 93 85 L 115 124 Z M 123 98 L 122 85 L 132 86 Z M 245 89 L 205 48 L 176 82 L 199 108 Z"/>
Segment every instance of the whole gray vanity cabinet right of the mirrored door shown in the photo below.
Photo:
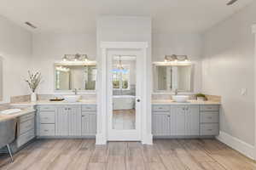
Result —
<path fill-rule="evenodd" d="M 153 102 L 154 138 L 214 137 L 219 133 L 217 102 Z"/>

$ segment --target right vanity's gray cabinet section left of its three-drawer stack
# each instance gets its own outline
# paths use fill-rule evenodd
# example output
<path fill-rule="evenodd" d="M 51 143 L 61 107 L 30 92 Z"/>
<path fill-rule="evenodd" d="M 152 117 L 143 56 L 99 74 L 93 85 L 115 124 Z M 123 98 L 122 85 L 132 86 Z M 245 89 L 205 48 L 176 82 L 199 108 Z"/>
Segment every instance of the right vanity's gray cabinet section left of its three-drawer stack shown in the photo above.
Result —
<path fill-rule="evenodd" d="M 199 105 L 154 105 L 152 122 L 154 137 L 198 136 Z"/>

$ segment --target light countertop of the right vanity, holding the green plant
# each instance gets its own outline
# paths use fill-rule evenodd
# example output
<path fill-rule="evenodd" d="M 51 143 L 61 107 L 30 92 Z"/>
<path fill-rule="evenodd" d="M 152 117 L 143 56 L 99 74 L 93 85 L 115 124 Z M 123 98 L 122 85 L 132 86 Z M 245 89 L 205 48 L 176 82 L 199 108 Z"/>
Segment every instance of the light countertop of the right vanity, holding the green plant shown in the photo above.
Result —
<path fill-rule="evenodd" d="M 152 105 L 221 105 L 218 101 L 198 101 L 189 100 L 186 103 L 177 103 L 171 99 L 165 100 L 152 100 Z"/>

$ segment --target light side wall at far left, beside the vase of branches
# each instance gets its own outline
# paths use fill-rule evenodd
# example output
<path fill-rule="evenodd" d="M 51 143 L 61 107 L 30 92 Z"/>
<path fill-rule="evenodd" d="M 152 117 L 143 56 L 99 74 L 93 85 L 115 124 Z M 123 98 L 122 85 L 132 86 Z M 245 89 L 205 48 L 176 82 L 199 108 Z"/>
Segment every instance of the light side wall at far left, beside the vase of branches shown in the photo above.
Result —
<path fill-rule="evenodd" d="M 3 58 L 3 102 L 28 94 L 27 71 L 32 59 L 32 34 L 0 16 L 0 56 Z"/>

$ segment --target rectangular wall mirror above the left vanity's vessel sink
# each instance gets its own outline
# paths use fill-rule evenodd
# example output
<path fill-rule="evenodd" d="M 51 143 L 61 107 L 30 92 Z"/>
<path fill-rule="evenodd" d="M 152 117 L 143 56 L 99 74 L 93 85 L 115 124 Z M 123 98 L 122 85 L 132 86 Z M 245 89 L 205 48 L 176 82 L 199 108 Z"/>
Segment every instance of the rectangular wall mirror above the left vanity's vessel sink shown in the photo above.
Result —
<path fill-rule="evenodd" d="M 55 65 L 55 91 L 96 90 L 96 65 Z"/>

